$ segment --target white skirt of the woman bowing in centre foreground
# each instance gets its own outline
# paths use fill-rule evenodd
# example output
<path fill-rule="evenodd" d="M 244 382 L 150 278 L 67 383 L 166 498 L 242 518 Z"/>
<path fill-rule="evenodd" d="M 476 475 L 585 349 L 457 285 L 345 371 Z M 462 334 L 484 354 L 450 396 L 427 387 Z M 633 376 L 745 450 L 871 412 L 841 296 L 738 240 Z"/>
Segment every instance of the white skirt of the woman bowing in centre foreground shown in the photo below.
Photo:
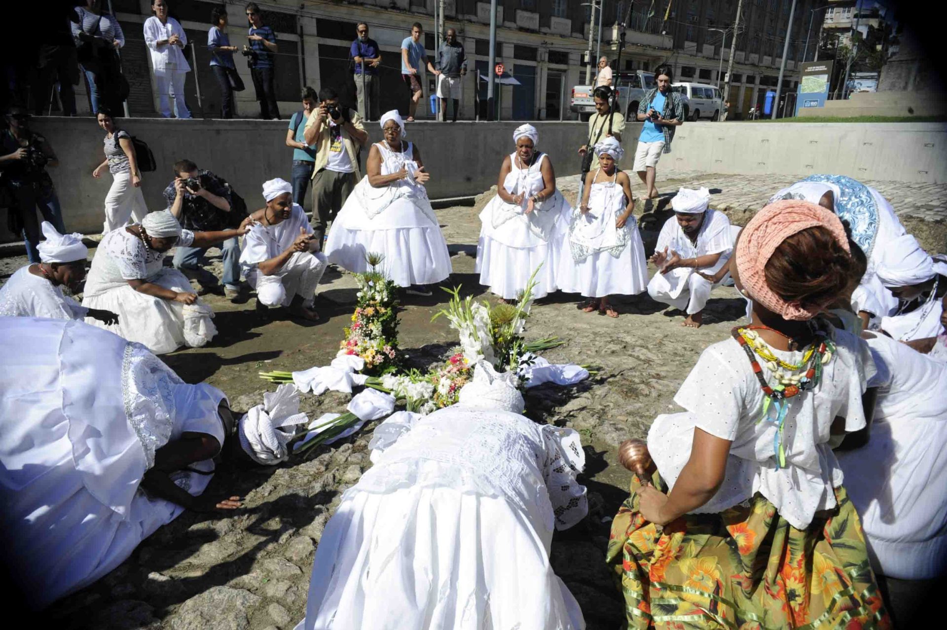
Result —
<path fill-rule="evenodd" d="M 544 539 L 503 498 L 348 491 L 319 541 L 296 630 L 579 630 Z"/>

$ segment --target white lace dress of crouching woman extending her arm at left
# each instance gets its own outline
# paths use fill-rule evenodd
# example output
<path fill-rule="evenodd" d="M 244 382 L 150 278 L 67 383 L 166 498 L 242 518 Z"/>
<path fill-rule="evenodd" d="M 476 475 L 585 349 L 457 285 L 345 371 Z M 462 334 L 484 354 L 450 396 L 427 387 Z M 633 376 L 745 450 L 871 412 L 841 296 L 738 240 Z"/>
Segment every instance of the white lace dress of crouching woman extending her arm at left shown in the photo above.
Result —
<path fill-rule="evenodd" d="M 178 245 L 188 246 L 193 239 L 194 234 L 186 229 Z M 111 311 L 118 315 L 118 324 L 106 325 L 91 317 L 86 323 L 136 341 L 155 354 L 181 346 L 205 346 L 217 334 L 217 328 L 211 321 L 214 312 L 204 300 L 185 305 L 139 293 L 128 283 L 143 279 L 170 291 L 193 293 L 184 274 L 165 267 L 164 259 L 165 254 L 146 249 L 145 243 L 124 227 L 106 234 L 98 243 L 85 279 L 82 306 Z"/>

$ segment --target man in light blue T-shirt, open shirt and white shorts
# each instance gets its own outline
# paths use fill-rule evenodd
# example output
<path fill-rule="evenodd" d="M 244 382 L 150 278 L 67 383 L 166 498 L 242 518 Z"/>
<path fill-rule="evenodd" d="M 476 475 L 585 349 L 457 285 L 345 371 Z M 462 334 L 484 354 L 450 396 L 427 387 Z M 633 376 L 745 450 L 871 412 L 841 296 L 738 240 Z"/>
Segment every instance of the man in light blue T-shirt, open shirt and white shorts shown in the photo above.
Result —
<path fill-rule="evenodd" d="M 684 104 L 681 95 L 670 89 L 671 70 L 668 65 L 659 65 L 654 70 L 653 87 L 638 105 L 638 121 L 644 121 L 638 148 L 634 151 L 634 171 L 647 188 L 646 197 L 657 197 L 654 179 L 657 177 L 657 162 L 661 153 L 670 153 L 670 141 L 674 139 L 674 127 L 684 124 Z"/>

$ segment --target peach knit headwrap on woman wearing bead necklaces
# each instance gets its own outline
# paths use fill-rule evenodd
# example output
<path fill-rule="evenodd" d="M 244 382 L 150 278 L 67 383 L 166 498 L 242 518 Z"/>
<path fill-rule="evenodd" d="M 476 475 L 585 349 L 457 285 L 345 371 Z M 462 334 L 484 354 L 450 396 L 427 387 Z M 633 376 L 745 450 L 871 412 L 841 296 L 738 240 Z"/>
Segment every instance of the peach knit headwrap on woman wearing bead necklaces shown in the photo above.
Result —
<path fill-rule="evenodd" d="M 835 214 L 807 201 L 785 199 L 759 210 L 743 227 L 737 242 L 737 271 L 749 297 L 783 319 L 812 319 L 817 310 L 802 308 L 798 302 L 787 302 L 773 293 L 766 284 L 766 263 L 783 241 L 802 230 L 821 225 L 831 232 L 845 251 L 849 238 Z"/>

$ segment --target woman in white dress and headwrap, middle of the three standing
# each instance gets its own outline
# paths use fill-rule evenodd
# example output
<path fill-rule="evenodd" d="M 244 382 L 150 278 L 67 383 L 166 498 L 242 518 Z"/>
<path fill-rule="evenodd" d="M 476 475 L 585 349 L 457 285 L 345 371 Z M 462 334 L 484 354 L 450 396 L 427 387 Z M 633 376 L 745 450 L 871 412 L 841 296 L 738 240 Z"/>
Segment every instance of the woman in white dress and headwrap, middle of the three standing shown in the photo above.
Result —
<path fill-rule="evenodd" d="M 503 158 L 496 196 L 480 212 L 476 271 L 491 293 L 512 300 L 542 265 L 532 294 L 545 297 L 559 288 L 556 275 L 572 208 L 556 189 L 552 162 L 536 150 L 536 128 L 517 127 L 513 142 L 516 151 Z"/>

